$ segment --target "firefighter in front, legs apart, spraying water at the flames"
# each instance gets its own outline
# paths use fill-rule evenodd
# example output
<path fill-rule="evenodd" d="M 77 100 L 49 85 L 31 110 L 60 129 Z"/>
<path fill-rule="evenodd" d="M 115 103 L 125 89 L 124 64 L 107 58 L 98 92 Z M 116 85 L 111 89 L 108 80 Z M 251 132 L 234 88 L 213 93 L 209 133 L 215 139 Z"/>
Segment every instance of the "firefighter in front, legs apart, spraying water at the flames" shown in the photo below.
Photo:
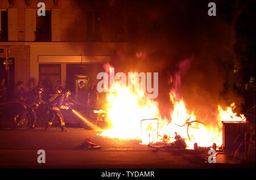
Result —
<path fill-rule="evenodd" d="M 60 121 L 61 131 L 68 131 L 65 128 L 64 118 L 63 118 L 62 113 L 60 112 L 60 109 L 66 109 L 66 110 L 69 109 L 69 106 L 63 105 L 63 101 L 68 100 L 69 95 L 71 95 L 70 91 L 68 91 L 68 90 L 67 91 L 62 91 L 59 96 L 56 96 L 54 98 L 54 100 L 52 100 L 52 99 L 49 100 L 49 103 L 50 103 L 50 105 L 49 105 L 50 119 L 49 119 L 49 121 L 46 125 L 46 131 L 49 130 L 49 127 L 52 126 L 52 122 L 53 122 L 55 116 L 57 116 L 57 118 Z"/>

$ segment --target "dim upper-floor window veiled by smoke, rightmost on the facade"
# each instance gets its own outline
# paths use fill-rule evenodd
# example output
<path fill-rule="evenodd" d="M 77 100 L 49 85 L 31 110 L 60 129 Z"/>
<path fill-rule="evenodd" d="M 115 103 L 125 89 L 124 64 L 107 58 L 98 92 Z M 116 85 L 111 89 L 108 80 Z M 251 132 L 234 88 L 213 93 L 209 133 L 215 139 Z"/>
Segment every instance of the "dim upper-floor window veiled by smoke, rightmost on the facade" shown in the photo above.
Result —
<path fill-rule="evenodd" d="M 100 41 L 100 11 L 86 12 L 86 40 Z"/>

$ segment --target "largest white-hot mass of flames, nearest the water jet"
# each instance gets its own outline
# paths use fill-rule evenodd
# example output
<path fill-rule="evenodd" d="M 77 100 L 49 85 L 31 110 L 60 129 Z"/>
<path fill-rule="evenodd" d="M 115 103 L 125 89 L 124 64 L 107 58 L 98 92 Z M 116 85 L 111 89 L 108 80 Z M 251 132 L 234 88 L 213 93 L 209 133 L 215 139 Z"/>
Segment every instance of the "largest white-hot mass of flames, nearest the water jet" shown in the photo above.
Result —
<path fill-rule="evenodd" d="M 109 93 L 107 101 L 106 118 L 112 128 L 105 130 L 102 136 L 138 139 L 141 138 L 142 119 L 160 118 L 157 102 L 149 100 L 144 92 L 133 93 L 119 83 L 115 83 L 114 93 Z"/>

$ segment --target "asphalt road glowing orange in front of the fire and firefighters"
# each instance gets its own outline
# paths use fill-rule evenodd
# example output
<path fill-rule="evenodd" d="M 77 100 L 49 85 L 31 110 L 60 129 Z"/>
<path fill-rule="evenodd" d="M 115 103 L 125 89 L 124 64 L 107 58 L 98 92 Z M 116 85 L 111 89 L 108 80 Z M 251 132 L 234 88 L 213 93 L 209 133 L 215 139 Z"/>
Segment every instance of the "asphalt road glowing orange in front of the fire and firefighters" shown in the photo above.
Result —
<path fill-rule="evenodd" d="M 61 132 L 59 127 L 45 131 L 44 123 L 36 130 L 13 130 L 3 124 L 0 128 L 0 168 L 245 168 L 236 163 L 205 163 L 205 152 L 156 151 L 139 144 L 140 140 L 102 137 L 96 131 L 80 127 L 69 127 L 68 132 Z M 82 149 L 85 138 L 102 148 Z M 38 163 L 39 149 L 46 152 L 46 163 Z"/>

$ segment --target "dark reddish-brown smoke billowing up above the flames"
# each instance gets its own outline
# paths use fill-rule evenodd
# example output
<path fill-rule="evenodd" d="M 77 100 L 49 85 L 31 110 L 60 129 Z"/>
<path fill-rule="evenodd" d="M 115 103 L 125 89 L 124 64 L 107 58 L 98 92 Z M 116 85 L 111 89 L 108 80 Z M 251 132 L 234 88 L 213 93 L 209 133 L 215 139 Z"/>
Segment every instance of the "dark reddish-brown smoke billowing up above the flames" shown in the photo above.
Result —
<path fill-rule="evenodd" d="M 79 1 L 82 11 L 86 12 L 88 2 Z M 109 6 L 109 1 L 95 2 Z M 118 23 L 122 16 L 115 14 L 111 21 L 117 27 L 126 22 L 129 45 L 125 52 L 117 49 L 110 64 L 116 72 L 159 72 L 157 101 L 163 115 L 170 114 L 169 92 L 173 88 L 200 119 L 214 118 L 218 104 L 241 104 L 242 98 L 235 93 L 224 92 L 224 85 L 229 87 L 233 80 L 236 38 L 220 8 L 217 16 L 208 16 L 209 2 L 203 0 L 115 2 L 108 8 L 126 12 L 126 16 Z M 90 51 L 89 46 L 82 48 Z"/>

